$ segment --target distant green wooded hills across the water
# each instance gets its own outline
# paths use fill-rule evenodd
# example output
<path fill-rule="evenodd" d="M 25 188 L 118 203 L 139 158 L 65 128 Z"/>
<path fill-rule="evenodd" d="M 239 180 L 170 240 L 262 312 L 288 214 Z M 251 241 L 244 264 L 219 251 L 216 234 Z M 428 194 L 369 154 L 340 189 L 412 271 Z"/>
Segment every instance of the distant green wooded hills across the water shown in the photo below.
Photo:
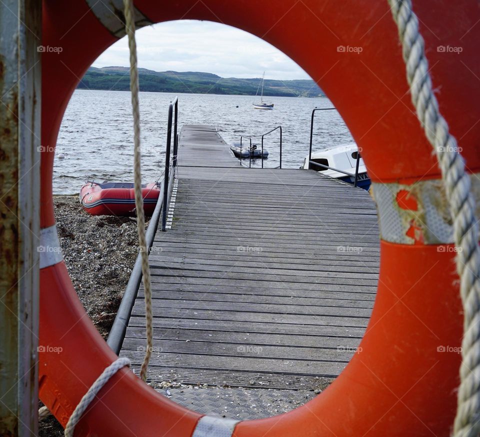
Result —
<path fill-rule="evenodd" d="M 130 89 L 128 71 L 128 67 L 119 66 L 90 67 L 78 88 L 128 91 Z M 239 79 L 197 71 L 153 71 L 146 68 L 138 68 L 138 73 L 140 91 L 156 92 L 255 95 L 261 80 L 259 77 Z M 316 97 L 324 93 L 311 79 L 265 79 L 263 95 Z"/>

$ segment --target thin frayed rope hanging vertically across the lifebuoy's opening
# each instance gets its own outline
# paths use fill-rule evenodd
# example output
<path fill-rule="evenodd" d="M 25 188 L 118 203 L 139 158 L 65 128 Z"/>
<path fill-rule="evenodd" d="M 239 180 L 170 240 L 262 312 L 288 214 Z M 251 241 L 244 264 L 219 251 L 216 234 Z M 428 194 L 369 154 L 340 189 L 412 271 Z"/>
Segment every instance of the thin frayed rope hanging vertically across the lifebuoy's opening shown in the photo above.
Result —
<path fill-rule="evenodd" d="M 133 113 L 133 175 L 135 190 L 136 224 L 138 230 L 138 243 L 141 250 L 141 271 L 143 275 L 143 288 L 145 292 L 145 319 L 146 343 L 145 357 L 140 368 L 140 377 L 146 380 L 148 361 L 153 348 L 152 339 L 152 311 L 151 311 L 151 285 L 150 268 L 148 265 L 148 251 L 145 238 L 145 215 L 143 212 L 143 198 L 141 195 L 141 168 L 140 168 L 140 110 L 138 106 L 138 69 L 136 64 L 135 20 L 133 16 L 132 0 L 123 0 L 125 13 L 125 29 L 128 35 L 128 48 L 130 50 L 130 90 L 131 106 Z"/>

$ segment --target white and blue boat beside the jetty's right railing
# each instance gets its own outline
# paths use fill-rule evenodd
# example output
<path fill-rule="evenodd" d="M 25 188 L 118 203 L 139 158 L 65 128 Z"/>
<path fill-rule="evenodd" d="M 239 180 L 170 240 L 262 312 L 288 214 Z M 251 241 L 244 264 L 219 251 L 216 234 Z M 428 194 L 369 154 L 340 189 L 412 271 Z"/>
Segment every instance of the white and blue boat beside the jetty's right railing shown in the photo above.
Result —
<path fill-rule="evenodd" d="M 308 162 L 308 155 L 305 156 L 300 168 L 311 168 L 319 171 L 325 176 L 343 180 L 344 182 L 355 182 L 356 161 L 358 147 L 356 143 L 329 147 L 324 150 L 317 150 L 311 153 L 311 161 Z M 318 165 L 315 165 L 318 164 Z M 329 167 L 329 168 L 326 168 Z M 365 163 L 361 156 L 358 156 L 358 174 L 356 185 L 368 190 L 370 188 L 370 176 L 366 172 Z"/>

